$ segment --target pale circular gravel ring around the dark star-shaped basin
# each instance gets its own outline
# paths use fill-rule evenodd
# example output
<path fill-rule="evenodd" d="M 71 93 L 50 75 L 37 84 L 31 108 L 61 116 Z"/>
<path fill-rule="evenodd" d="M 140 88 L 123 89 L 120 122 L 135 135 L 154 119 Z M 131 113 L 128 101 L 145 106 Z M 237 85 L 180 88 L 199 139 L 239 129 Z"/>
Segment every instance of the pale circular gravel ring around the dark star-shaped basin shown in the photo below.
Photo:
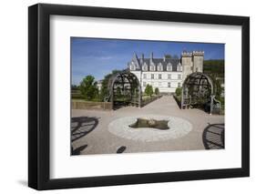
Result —
<path fill-rule="evenodd" d="M 137 118 L 169 120 L 169 129 L 160 130 L 157 128 L 130 128 L 129 125 L 135 123 Z M 188 120 L 180 117 L 169 117 L 159 115 L 144 115 L 136 117 L 120 117 L 113 120 L 108 125 L 108 131 L 120 138 L 128 138 L 136 141 L 163 141 L 174 138 L 181 138 L 192 130 L 192 125 Z"/>

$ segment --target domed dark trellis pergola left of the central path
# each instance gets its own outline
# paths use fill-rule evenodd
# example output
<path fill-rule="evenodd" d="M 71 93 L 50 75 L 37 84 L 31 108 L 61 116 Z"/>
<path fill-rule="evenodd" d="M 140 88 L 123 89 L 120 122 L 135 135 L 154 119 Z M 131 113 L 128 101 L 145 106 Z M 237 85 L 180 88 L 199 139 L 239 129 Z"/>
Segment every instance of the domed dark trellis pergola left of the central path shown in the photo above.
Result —
<path fill-rule="evenodd" d="M 138 78 L 127 70 L 109 79 L 108 91 L 113 109 L 128 105 L 141 107 L 141 87 Z"/>

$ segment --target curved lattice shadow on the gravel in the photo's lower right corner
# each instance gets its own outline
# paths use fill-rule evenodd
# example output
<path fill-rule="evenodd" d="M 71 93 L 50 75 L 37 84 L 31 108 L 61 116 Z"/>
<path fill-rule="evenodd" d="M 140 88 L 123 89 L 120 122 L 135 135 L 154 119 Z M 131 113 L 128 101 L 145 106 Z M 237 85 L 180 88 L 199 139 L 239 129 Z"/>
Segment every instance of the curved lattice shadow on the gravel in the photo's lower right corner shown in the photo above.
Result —
<path fill-rule="evenodd" d="M 225 148 L 224 124 L 211 124 L 204 129 L 202 134 L 203 145 L 206 149 Z"/>

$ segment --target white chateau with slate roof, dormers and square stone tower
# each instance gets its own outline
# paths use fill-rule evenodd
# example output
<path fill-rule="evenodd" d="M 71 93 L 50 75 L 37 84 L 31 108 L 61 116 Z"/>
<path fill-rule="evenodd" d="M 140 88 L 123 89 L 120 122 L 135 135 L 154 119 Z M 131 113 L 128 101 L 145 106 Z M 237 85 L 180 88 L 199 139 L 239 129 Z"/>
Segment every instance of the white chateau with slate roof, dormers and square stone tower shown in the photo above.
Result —
<path fill-rule="evenodd" d="M 138 58 L 134 54 L 128 69 L 138 77 L 142 91 L 149 84 L 153 88 L 159 87 L 160 93 L 173 93 L 177 87 L 182 87 L 189 74 L 203 71 L 203 56 L 203 51 L 183 51 L 180 58 L 154 58 L 153 53 L 149 58 L 143 54 Z"/>

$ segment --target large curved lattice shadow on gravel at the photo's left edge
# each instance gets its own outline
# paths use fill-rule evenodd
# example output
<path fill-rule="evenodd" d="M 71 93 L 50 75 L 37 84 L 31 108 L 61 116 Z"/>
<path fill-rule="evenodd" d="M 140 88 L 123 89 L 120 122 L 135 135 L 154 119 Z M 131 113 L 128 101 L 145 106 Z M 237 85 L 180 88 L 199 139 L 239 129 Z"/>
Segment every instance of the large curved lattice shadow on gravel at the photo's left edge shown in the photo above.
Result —
<path fill-rule="evenodd" d="M 72 117 L 71 118 L 71 141 L 87 136 L 97 127 L 97 117 Z"/>

